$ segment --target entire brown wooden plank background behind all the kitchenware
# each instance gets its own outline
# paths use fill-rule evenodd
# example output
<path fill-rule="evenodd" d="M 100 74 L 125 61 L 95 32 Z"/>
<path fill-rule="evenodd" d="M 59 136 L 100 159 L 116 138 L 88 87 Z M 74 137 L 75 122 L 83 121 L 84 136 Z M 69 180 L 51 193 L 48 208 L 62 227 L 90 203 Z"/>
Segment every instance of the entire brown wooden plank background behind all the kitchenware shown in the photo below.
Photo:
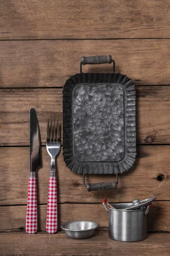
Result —
<path fill-rule="evenodd" d="M 81 56 L 112 55 L 116 72 L 136 84 L 136 162 L 116 191 L 87 192 L 82 176 L 57 158 L 59 224 L 99 223 L 91 239 L 45 232 L 50 158 L 46 122 L 62 123 L 62 86 L 79 73 Z M 83 67 L 112 72 L 112 65 Z M 0 0 L 0 255 L 168 255 L 170 237 L 170 2 L 169 0 Z M 38 234 L 25 232 L 29 176 L 29 109 L 42 137 Z M 88 176 L 86 183 L 115 180 Z M 148 239 L 108 239 L 109 202 L 157 196 L 147 217 Z M 65 239 L 65 240 L 64 240 Z M 41 244 L 41 247 L 40 247 Z M 39 248 L 39 249 L 38 249 Z M 40 250 L 41 249 L 41 250 Z M 125 253 L 125 254 L 124 254 Z"/>

